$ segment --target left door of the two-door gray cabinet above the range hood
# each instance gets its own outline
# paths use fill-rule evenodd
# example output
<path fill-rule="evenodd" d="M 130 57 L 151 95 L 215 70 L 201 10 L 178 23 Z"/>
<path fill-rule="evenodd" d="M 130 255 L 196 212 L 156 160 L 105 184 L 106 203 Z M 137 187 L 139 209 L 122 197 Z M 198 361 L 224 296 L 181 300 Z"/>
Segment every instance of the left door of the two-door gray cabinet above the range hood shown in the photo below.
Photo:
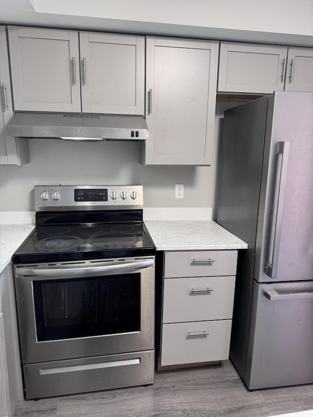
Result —
<path fill-rule="evenodd" d="M 9 26 L 14 110 L 81 111 L 78 33 Z"/>

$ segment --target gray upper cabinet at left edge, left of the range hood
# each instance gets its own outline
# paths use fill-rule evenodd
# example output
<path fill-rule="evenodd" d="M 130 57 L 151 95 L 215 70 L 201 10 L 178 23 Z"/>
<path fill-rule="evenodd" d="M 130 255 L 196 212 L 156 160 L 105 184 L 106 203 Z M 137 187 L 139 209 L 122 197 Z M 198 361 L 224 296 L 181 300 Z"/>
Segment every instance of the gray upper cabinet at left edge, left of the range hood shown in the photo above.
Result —
<path fill-rule="evenodd" d="M 6 31 L 0 26 L 0 165 L 29 162 L 28 139 L 7 136 L 5 125 L 13 115 Z"/>

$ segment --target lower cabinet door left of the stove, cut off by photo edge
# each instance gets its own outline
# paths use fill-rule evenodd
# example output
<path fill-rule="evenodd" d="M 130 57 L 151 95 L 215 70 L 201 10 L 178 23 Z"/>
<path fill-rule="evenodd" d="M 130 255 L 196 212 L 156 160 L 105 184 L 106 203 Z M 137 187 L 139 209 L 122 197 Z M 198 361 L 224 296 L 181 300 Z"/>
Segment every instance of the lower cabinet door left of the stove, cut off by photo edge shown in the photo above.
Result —
<path fill-rule="evenodd" d="M 8 416 L 9 382 L 4 343 L 3 313 L 0 313 L 0 417 Z"/>

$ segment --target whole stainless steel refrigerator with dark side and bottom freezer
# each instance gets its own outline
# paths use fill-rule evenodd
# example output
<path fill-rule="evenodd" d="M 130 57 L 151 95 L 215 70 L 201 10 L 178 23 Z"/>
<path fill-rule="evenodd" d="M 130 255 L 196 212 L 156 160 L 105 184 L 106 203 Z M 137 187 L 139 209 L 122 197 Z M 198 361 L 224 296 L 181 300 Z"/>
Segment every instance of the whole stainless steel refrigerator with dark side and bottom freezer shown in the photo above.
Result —
<path fill-rule="evenodd" d="M 313 383 L 313 93 L 224 113 L 217 222 L 239 251 L 230 358 L 248 389 Z"/>

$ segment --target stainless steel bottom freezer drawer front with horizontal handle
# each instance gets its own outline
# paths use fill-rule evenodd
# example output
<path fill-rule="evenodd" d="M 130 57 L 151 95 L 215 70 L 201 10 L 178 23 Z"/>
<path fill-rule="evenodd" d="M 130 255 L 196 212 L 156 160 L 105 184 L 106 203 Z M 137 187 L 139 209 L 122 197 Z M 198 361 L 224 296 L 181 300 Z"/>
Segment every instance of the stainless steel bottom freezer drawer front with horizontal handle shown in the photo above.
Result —
<path fill-rule="evenodd" d="M 253 283 L 248 389 L 313 383 L 313 281 Z"/>

